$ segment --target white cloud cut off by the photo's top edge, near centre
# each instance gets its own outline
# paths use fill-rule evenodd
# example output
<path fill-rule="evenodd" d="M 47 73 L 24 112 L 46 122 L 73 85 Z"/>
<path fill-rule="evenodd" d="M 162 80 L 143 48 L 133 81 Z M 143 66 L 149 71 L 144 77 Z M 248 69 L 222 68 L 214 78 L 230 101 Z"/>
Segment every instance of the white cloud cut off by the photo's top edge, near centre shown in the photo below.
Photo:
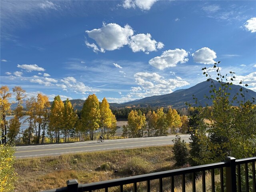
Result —
<path fill-rule="evenodd" d="M 156 0 L 125 0 L 123 7 L 128 8 L 140 8 L 141 10 L 150 10 Z"/>

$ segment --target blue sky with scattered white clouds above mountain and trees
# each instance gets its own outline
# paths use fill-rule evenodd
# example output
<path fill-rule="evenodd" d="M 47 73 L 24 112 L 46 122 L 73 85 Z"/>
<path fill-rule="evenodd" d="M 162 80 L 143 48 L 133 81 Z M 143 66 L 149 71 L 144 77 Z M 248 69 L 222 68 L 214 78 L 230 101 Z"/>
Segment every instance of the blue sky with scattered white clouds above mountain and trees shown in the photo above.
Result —
<path fill-rule="evenodd" d="M 256 91 L 256 1 L 1 0 L 1 86 L 127 102 L 236 72 Z"/>

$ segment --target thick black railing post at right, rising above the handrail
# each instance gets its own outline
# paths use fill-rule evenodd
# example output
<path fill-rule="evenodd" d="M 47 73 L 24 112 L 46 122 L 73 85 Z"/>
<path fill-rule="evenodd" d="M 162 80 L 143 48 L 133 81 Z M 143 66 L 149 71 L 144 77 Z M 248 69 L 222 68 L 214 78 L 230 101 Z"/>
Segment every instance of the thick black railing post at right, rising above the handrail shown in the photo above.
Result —
<path fill-rule="evenodd" d="M 225 161 L 229 163 L 226 167 L 226 191 L 236 192 L 236 158 L 225 157 Z"/>

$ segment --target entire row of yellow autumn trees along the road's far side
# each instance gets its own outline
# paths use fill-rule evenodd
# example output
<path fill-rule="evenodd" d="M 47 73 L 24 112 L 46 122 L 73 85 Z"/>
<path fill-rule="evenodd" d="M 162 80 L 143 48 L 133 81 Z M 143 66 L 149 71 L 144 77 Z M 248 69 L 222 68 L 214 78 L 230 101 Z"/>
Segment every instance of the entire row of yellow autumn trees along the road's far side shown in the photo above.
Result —
<path fill-rule="evenodd" d="M 99 102 L 95 94 L 89 95 L 82 110 L 77 111 L 68 99 L 63 102 L 60 96 L 56 96 L 50 104 L 49 98 L 39 93 L 36 97 L 26 99 L 24 110 L 22 104 L 26 91 L 15 86 L 12 92 L 8 86 L 0 88 L 2 144 L 6 143 L 6 138 L 16 143 L 39 144 L 95 140 L 98 135 L 109 139 L 116 133 L 114 113 L 118 110 L 114 109 L 113 113 L 106 98 Z M 12 95 L 17 103 L 13 111 L 9 101 Z M 188 117 L 180 117 L 171 107 L 155 110 L 149 107 L 136 110 L 124 108 L 122 111 L 128 113 L 128 124 L 123 127 L 124 138 L 173 134 L 177 128 L 185 133 L 188 128 Z M 14 117 L 7 121 L 6 116 L 9 114 L 14 114 Z M 28 124 L 28 128 L 20 132 L 22 121 Z"/>

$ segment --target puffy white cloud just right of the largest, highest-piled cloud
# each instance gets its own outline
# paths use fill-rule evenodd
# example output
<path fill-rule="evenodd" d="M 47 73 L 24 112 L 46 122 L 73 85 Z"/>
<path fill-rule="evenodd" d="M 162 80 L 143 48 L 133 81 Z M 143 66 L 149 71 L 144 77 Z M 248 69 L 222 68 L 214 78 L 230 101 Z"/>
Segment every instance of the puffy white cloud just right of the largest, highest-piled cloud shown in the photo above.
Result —
<path fill-rule="evenodd" d="M 159 48 L 163 48 L 164 44 L 162 42 L 156 42 L 156 40 L 151 40 L 151 35 L 147 34 L 137 34 L 131 37 L 130 48 L 133 52 L 143 51 L 148 53 L 149 51 L 156 51 Z"/>

